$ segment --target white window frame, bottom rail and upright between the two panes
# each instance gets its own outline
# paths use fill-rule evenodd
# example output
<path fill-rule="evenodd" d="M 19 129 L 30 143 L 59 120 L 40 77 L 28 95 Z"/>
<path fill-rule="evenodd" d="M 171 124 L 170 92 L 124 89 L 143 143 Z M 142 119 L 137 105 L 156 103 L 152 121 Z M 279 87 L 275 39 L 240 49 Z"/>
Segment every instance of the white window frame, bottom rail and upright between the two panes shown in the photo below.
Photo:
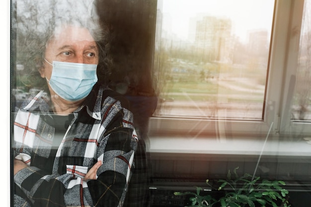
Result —
<path fill-rule="evenodd" d="M 294 87 L 304 0 L 276 0 L 271 37 L 264 118 L 261 121 L 208 120 L 187 118 L 150 119 L 150 135 L 197 137 L 265 137 L 310 135 L 306 123 L 290 120 L 290 90 Z M 298 44 L 298 45 L 297 45 Z M 289 100 L 289 101 L 288 101 Z M 310 126 L 310 124 L 309 124 Z"/>

